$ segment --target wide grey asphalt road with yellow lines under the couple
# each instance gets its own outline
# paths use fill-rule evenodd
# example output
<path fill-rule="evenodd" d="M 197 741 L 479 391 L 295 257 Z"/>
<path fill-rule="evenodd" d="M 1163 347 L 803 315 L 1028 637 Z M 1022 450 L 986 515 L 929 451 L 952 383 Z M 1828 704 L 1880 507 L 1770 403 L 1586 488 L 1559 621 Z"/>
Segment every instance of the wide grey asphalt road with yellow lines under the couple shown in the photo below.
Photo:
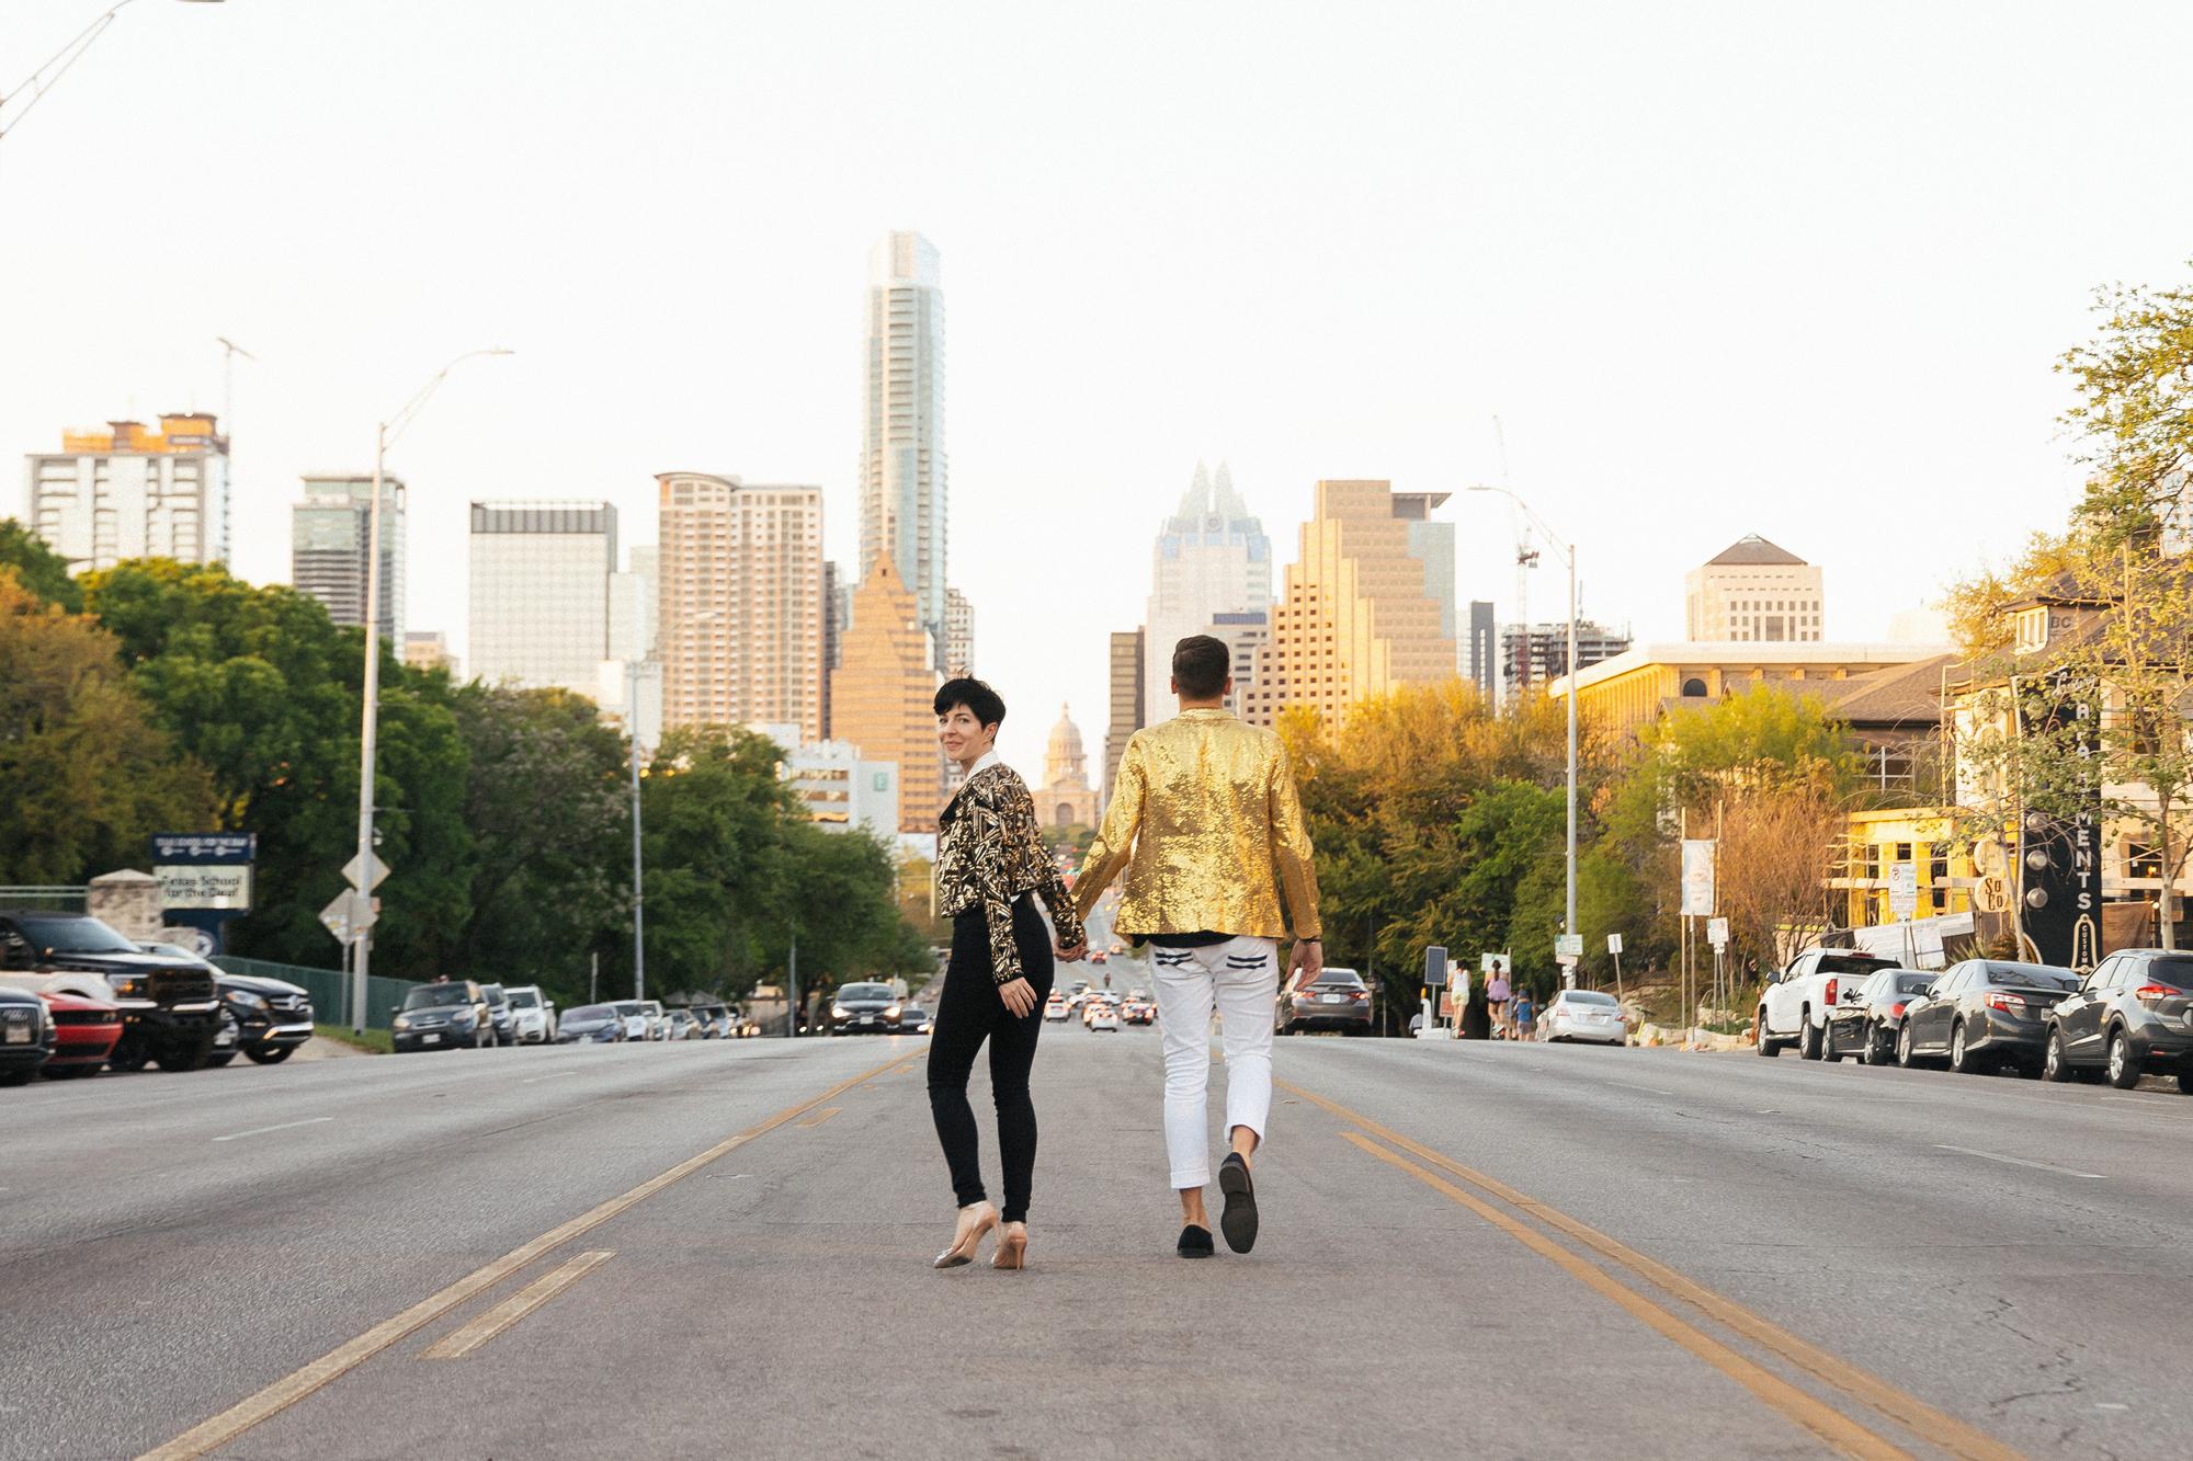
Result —
<path fill-rule="evenodd" d="M 1283 1040 L 1184 1264 L 1156 1035 L 1053 1024 L 1031 1266 L 934 1272 L 921 1051 L 0 1092 L 0 1457 L 2186 1450 L 2186 1097 Z"/>

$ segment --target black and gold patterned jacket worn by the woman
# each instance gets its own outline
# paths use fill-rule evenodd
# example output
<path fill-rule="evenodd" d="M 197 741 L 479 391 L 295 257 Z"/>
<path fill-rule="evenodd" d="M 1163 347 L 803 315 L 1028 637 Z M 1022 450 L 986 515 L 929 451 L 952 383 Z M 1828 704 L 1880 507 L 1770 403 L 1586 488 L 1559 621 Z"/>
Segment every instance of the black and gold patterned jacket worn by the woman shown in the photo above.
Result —
<path fill-rule="evenodd" d="M 967 777 L 936 818 L 936 906 L 945 917 L 980 908 L 989 926 L 989 965 L 1000 985 L 1022 976 L 1013 943 L 1013 899 L 1035 893 L 1066 948 L 1081 943 L 1081 915 L 1066 895 L 1029 783 L 991 763 Z"/>

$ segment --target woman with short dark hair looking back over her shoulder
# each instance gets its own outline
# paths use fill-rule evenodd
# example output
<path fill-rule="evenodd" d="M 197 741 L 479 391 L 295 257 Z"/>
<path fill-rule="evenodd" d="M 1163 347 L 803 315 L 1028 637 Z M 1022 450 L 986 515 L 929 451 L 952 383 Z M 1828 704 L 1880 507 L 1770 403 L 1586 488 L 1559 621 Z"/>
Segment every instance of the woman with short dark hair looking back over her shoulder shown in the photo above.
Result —
<path fill-rule="evenodd" d="M 1083 943 L 1066 880 L 1035 820 L 1035 799 L 998 759 L 1004 700 L 980 680 L 947 680 L 936 691 L 936 741 L 965 777 L 936 818 L 936 906 L 952 917 L 952 963 L 930 1035 L 930 1114 L 952 1169 L 958 1228 L 936 1268 L 971 1264 L 982 1237 L 998 1233 L 996 1268 L 1020 1268 L 1029 1253 L 1029 1187 L 1035 1176 L 1035 1101 L 1029 1071 L 1050 994 L 1050 930 L 1035 899 L 1050 908 L 1057 943 Z M 980 1147 L 967 1077 L 989 1042 L 989 1086 L 998 1103 L 1004 1211 L 982 1191 Z"/>

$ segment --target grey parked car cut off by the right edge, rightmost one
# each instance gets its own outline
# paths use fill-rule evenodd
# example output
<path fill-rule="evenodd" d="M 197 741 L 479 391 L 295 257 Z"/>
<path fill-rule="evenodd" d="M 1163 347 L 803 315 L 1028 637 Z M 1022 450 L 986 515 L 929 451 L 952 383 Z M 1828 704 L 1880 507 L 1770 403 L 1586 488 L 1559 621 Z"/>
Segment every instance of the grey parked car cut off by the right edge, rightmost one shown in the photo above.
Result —
<path fill-rule="evenodd" d="M 2125 948 L 2048 1011 L 2042 1075 L 2099 1071 L 2118 1090 L 2140 1075 L 2175 1075 L 2193 1095 L 2193 954 Z"/>

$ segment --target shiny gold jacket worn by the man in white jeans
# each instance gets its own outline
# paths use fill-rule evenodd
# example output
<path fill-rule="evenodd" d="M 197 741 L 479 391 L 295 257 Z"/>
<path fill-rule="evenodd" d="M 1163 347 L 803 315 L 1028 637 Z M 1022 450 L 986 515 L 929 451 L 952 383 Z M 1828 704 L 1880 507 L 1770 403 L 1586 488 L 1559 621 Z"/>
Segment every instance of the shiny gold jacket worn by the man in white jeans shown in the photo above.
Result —
<path fill-rule="evenodd" d="M 1123 935 L 1316 939 L 1318 873 L 1279 735 L 1230 711 L 1182 711 L 1136 730 L 1075 877 L 1081 917 L 1121 869 Z"/>

